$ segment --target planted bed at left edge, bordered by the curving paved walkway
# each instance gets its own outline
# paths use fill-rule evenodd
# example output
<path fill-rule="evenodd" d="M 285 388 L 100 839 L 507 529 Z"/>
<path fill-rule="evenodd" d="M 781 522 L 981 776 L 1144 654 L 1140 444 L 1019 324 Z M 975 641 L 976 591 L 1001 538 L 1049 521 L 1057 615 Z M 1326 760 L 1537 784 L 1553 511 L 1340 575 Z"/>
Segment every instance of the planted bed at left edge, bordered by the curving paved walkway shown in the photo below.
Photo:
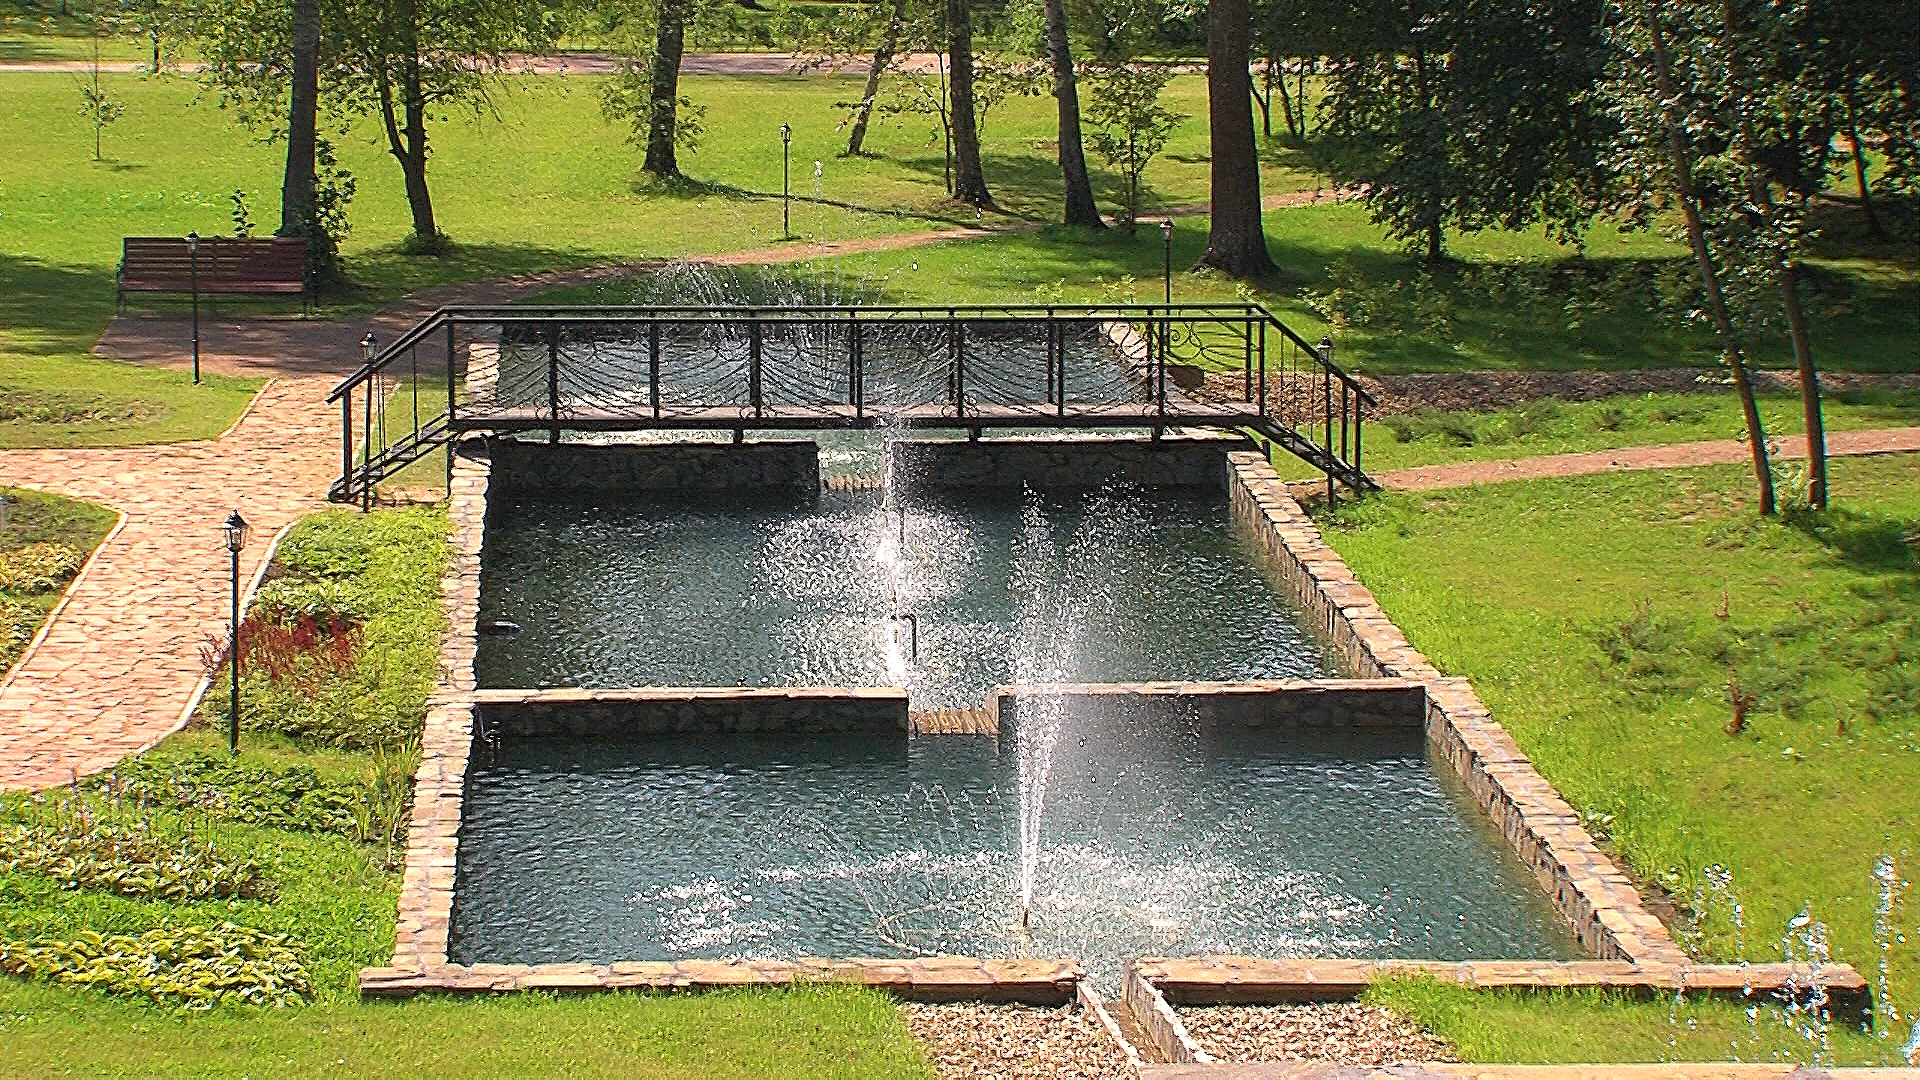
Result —
<path fill-rule="evenodd" d="M 44 492 L 0 488 L 0 675 L 27 651 L 115 513 Z"/>

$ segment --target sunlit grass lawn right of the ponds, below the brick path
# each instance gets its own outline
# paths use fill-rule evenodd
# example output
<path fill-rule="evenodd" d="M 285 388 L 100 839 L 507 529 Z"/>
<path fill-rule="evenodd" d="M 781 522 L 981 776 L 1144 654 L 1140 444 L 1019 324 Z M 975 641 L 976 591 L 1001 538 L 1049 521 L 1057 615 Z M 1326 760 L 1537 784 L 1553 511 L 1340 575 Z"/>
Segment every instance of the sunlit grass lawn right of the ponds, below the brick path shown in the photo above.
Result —
<path fill-rule="evenodd" d="M 1834 480 L 1843 505 L 1786 523 L 1716 467 L 1380 496 L 1327 538 L 1622 861 L 1695 909 L 1701 955 L 1778 959 L 1805 909 L 1836 959 L 1878 978 L 1885 957 L 1905 1015 L 1920 897 L 1876 938 L 1874 865 L 1920 867 L 1920 457 L 1839 459 Z M 1730 684 L 1749 700 L 1732 732 Z"/>

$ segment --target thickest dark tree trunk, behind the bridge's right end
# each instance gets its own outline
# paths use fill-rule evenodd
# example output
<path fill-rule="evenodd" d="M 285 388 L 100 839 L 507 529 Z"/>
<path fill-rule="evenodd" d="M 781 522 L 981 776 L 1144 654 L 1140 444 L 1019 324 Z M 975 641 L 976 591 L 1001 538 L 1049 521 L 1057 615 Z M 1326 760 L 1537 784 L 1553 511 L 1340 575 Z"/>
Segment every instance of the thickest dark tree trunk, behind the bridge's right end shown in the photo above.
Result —
<path fill-rule="evenodd" d="M 1231 277 L 1275 271 L 1260 221 L 1260 158 L 1254 150 L 1252 37 L 1248 0 L 1215 0 L 1208 25 L 1208 133 L 1212 136 L 1212 227 L 1200 265 Z"/>

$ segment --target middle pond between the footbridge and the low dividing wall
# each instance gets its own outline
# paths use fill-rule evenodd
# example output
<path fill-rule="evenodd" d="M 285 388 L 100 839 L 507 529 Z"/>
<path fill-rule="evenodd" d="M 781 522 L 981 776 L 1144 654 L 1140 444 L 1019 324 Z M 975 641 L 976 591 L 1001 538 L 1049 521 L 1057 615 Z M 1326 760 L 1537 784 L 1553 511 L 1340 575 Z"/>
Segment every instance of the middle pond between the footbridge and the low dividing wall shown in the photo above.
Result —
<path fill-rule="evenodd" d="M 906 686 L 939 709 L 1006 682 L 1327 673 L 1217 494 L 516 502 L 480 607 L 522 628 L 480 642 L 497 688 Z"/>

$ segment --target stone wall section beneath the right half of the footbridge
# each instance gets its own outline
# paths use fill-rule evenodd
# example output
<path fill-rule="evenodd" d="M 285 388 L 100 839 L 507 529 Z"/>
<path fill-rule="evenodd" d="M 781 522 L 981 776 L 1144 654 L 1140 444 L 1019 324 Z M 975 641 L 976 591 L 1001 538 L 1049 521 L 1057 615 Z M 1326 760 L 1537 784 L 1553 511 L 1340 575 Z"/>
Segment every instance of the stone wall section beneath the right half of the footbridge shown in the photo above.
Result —
<path fill-rule="evenodd" d="M 908 488 L 1098 488 L 1125 480 L 1142 488 L 1227 484 L 1227 452 L 1248 446 L 1238 436 L 1077 434 L 981 438 L 977 442 L 902 438 L 891 444 L 893 475 Z"/>

